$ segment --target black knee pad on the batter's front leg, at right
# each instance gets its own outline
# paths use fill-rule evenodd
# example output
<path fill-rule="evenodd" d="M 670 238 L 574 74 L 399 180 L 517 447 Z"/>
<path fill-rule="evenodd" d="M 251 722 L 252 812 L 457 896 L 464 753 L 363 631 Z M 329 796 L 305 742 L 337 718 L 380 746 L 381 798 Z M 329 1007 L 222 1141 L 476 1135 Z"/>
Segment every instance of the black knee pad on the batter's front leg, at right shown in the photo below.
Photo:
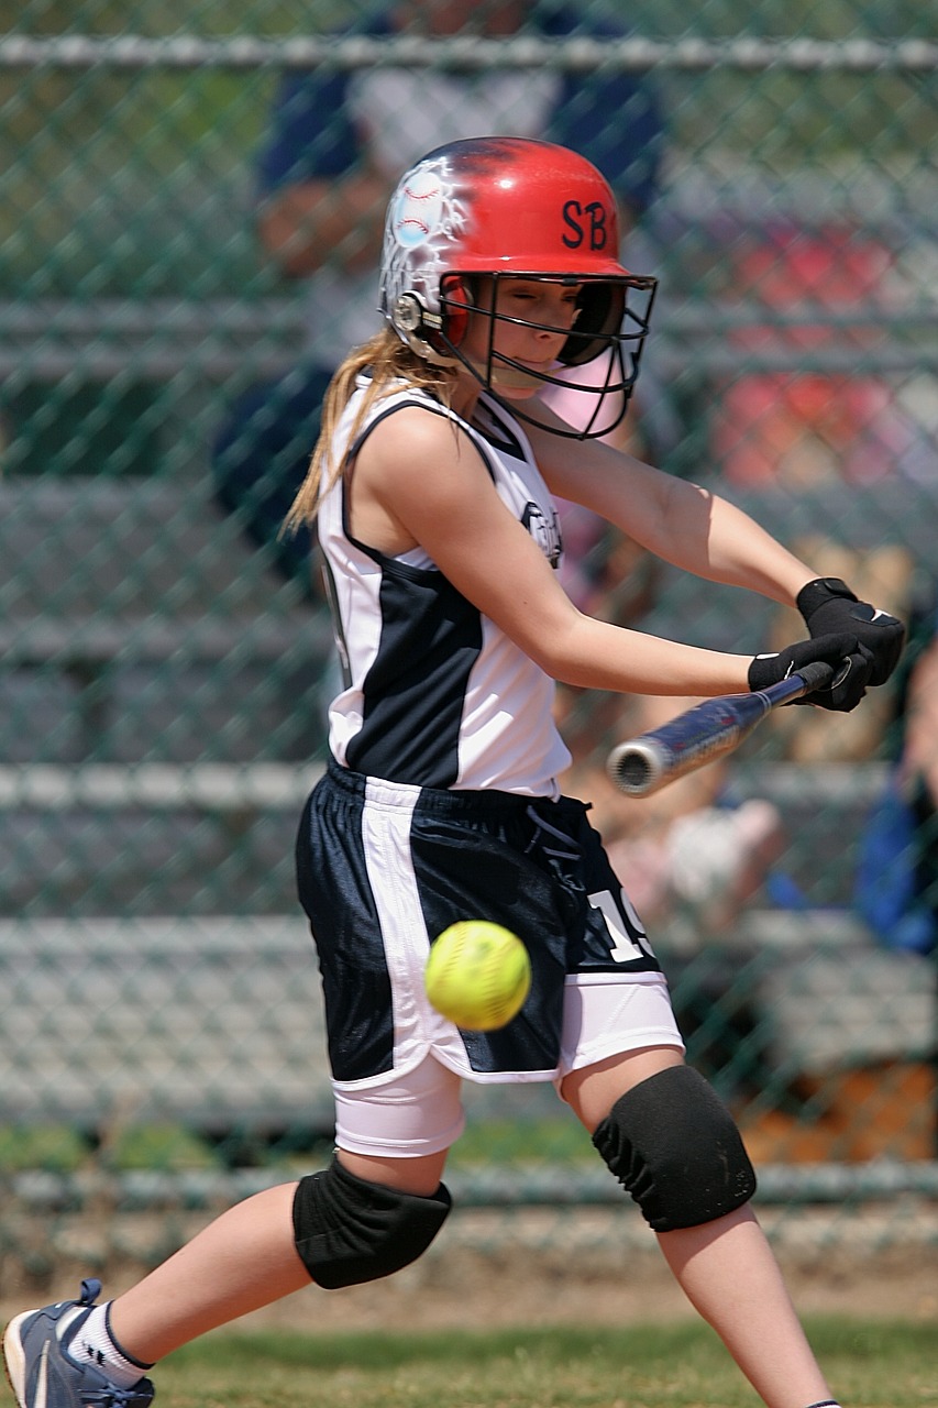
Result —
<path fill-rule="evenodd" d="M 668 1066 L 621 1095 L 593 1143 L 656 1232 L 714 1222 L 755 1193 L 732 1115 L 690 1066 Z"/>

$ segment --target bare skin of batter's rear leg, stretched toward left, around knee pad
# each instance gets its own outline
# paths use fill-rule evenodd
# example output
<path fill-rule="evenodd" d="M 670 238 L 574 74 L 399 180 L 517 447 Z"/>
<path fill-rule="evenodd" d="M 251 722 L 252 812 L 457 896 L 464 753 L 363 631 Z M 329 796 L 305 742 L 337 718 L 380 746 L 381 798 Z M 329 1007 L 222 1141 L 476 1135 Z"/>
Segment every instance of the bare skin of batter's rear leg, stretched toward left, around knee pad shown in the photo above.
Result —
<path fill-rule="evenodd" d="M 435 1191 L 446 1159 L 338 1157 L 359 1178 L 414 1194 Z M 238 1202 L 117 1297 L 110 1329 L 120 1347 L 155 1364 L 206 1331 L 310 1286 L 293 1240 L 296 1187 L 280 1184 Z"/>

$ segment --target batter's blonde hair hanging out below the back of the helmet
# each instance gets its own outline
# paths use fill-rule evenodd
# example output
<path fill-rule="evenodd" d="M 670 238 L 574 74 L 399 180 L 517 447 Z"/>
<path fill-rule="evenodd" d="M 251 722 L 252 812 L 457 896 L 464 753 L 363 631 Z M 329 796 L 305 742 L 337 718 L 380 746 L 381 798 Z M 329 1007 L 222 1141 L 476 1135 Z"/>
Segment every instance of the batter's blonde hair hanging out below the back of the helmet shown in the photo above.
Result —
<path fill-rule="evenodd" d="M 297 532 L 314 521 L 321 496 L 332 487 L 344 470 L 342 463 L 331 463 L 332 441 L 342 413 L 352 398 L 358 377 L 363 372 L 369 372 L 370 380 L 348 436 L 349 445 L 355 442 L 375 401 L 400 390 L 401 380 L 432 391 L 444 406 L 451 404 L 456 382 L 455 367 L 424 362 L 400 341 L 392 328 L 382 328 L 369 342 L 354 348 L 330 382 L 323 400 L 320 438 L 315 442 L 306 479 L 283 520 L 283 534 Z"/>

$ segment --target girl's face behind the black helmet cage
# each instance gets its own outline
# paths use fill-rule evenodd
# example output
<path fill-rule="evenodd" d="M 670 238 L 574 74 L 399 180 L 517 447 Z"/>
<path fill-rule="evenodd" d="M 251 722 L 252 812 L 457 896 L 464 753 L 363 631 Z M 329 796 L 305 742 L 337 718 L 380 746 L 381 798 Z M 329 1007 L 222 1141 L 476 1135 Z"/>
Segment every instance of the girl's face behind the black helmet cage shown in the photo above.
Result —
<path fill-rule="evenodd" d="M 527 400 L 544 390 L 538 373 L 552 375 L 556 369 L 558 353 L 576 321 L 579 293 L 579 283 L 487 280 L 479 290 L 479 306 L 492 307 L 497 298 L 497 317 L 470 314 L 461 352 L 483 367 L 492 352 L 492 386 L 500 396 Z M 525 369 L 531 370 L 531 377 L 525 376 Z"/>

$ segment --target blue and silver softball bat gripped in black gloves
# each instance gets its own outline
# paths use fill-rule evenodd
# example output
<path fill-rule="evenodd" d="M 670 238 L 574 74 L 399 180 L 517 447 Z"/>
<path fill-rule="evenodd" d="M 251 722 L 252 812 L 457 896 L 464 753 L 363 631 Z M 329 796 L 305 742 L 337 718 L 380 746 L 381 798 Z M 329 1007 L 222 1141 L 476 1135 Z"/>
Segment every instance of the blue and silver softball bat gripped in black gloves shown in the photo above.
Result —
<path fill-rule="evenodd" d="M 618 743 L 606 763 L 608 776 L 630 797 L 648 797 L 731 753 L 772 710 L 834 683 L 832 667 L 813 660 L 766 690 L 704 700 L 661 728 Z"/>

